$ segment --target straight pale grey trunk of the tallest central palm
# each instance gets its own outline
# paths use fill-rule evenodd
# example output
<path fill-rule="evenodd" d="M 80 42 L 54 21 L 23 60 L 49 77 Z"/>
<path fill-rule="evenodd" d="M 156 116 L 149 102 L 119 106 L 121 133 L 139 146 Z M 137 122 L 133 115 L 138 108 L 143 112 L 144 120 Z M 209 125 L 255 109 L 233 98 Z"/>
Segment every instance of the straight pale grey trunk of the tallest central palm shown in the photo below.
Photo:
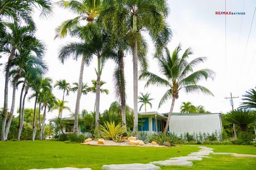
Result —
<path fill-rule="evenodd" d="M 134 11 L 136 11 L 136 6 L 134 6 Z M 137 33 L 137 16 L 133 15 L 133 33 Z M 132 47 L 133 55 L 133 105 L 134 105 L 134 126 L 133 131 L 138 129 L 138 44 L 135 38 Z"/>

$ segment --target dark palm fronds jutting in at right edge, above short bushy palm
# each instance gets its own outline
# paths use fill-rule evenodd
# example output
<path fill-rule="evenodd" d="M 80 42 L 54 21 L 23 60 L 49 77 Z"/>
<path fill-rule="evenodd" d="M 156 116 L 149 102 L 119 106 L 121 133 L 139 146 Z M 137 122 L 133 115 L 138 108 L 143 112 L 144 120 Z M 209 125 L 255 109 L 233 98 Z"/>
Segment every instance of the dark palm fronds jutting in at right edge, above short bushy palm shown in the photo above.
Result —
<path fill-rule="evenodd" d="M 241 109 L 256 109 L 256 87 L 255 89 L 250 89 L 246 91 L 246 94 L 243 95 L 243 102 L 239 108 Z"/>

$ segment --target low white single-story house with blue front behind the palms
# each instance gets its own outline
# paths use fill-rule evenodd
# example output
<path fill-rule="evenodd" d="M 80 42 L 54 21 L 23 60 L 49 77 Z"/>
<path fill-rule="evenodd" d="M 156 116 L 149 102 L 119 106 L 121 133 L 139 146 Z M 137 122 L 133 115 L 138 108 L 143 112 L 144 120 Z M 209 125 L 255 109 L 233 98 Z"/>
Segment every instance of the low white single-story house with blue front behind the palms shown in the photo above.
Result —
<path fill-rule="evenodd" d="M 163 132 L 168 113 L 146 112 L 139 113 L 138 130 L 147 133 Z M 68 126 L 63 128 L 63 133 L 74 132 L 75 117 L 64 117 Z M 49 120 L 54 122 L 55 119 Z M 177 135 L 184 133 L 214 133 L 222 132 L 221 114 L 220 113 L 172 113 L 169 124 L 169 132 Z"/>

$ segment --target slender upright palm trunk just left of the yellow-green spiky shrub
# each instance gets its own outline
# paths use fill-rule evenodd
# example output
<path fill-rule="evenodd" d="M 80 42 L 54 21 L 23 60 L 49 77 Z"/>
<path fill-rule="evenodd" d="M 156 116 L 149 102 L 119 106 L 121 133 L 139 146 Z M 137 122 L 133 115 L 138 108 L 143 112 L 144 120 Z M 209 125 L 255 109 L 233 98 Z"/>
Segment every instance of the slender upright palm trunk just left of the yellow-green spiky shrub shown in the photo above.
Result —
<path fill-rule="evenodd" d="M 99 112 L 100 112 L 100 57 L 98 56 L 97 84 L 96 84 L 96 108 L 95 108 L 95 128 L 99 128 Z"/>

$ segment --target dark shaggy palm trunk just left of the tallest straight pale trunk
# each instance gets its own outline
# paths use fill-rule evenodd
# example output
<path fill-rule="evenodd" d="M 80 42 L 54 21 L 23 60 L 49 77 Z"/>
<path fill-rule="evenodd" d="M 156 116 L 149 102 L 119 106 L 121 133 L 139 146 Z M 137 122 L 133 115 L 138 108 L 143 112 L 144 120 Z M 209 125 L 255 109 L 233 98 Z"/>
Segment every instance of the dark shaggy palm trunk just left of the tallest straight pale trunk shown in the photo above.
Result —
<path fill-rule="evenodd" d="M 125 94 L 125 78 L 124 78 L 124 51 L 119 50 L 119 57 L 120 57 L 120 62 L 119 62 L 119 70 L 121 72 L 120 75 L 120 92 L 121 92 L 121 107 L 122 107 L 122 122 L 123 126 L 126 128 L 126 115 L 125 115 L 125 106 L 126 106 L 126 94 Z"/>

